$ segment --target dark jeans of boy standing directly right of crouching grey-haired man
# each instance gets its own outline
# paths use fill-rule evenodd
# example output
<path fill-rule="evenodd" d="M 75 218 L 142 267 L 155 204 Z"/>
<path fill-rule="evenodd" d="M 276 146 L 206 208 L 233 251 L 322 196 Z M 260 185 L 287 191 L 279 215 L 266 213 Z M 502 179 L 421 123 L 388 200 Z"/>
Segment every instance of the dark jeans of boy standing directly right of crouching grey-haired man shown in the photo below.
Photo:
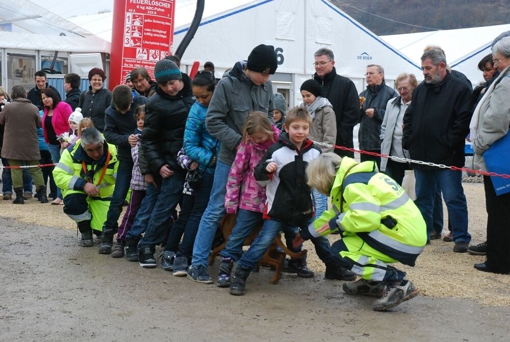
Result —
<path fill-rule="evenodd" d="M 133 161 L 119 160 L 117 178 L 115 178 L 115 188 L 113 189 L 112 200 L 103 226 L 104 241 L 111 242 L 113 235 L 117 232 L 119 227 L 118 220 L 122 212 L 122 205 L 127 196 L 127 191 L 130 187 L 132 173 Z"/>

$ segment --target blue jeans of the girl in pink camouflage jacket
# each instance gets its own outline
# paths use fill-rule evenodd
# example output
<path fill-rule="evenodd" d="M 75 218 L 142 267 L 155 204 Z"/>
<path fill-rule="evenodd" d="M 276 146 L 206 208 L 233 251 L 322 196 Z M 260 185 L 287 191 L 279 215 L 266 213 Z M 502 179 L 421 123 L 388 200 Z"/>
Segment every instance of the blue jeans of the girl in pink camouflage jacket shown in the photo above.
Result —
<path fill-rule="evenodd" d="M 228 236 L 225 249 L 221 251 L 221 256 L 232 258 L 237 261 L 243 253 L 244 240 L 251 234 L 257 223 L 262 221 L 262 213 L 250 212 L 249 210 L 239 209 L 236 225 L 232 233 Z"/>

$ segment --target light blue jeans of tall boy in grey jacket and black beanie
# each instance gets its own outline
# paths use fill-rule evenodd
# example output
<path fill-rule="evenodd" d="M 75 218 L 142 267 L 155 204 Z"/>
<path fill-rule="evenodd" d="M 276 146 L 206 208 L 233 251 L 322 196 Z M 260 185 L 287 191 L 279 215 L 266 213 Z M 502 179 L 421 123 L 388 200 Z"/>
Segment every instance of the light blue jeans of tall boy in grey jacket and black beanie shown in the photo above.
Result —
<path fill-rule="evenodd" d="M 198 232 L 196 234 L 195 244 L 193 245 L 192 266 L 202 265 L 207 267 L 208 265 L 208 258 L 211 252 L 214 235 L 216 234 L 216 230 L 218 230 L 221 219 L 223 219 L 226 213 L 226 181 L 230 168 L 231 165 L 226 165 L 219 161 L 216 163 L 209 204 L 198 225 Z"/>

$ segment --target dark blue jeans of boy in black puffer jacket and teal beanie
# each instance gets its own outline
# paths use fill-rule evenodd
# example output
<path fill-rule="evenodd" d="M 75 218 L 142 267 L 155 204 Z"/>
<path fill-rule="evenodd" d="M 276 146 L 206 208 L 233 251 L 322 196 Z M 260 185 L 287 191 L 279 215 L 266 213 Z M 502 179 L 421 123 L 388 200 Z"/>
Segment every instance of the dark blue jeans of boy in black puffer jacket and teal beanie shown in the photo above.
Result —
<path fill-rule="evenodd" d="M 145 234 L 143 234 L 143 238 L 138 243 L 138 250 L 143 247 L 154 248 L 165 239 L 168 219 L 172 216 L 175 207 L 183 196 L 184 178 L 186 176 L 182 169 L 172 171 L 174 172 L 173 175 L 163 178 L 161 182 L 161 190 L 154 206 L 154 211 L 152 211 L 150 216 Z"/>

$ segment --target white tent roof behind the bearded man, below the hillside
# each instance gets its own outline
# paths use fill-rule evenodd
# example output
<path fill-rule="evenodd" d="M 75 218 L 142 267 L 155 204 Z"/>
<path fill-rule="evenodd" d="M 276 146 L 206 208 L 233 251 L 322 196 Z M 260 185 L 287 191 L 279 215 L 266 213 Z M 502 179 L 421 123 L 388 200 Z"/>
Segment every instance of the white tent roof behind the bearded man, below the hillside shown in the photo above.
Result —
<path fill-rule="evenodd" d="M 491 43 L 500 33 L 510 30 L 510 24 L 469 29 L 443 30 L 401 35 L 381 36 L 412 61 L 420 63 L 426 45 L 439 45 L 446 53 L 446 61 L 464 73 L 473 86 L 483 82 L 478 62 L 491 53 Z"/>

